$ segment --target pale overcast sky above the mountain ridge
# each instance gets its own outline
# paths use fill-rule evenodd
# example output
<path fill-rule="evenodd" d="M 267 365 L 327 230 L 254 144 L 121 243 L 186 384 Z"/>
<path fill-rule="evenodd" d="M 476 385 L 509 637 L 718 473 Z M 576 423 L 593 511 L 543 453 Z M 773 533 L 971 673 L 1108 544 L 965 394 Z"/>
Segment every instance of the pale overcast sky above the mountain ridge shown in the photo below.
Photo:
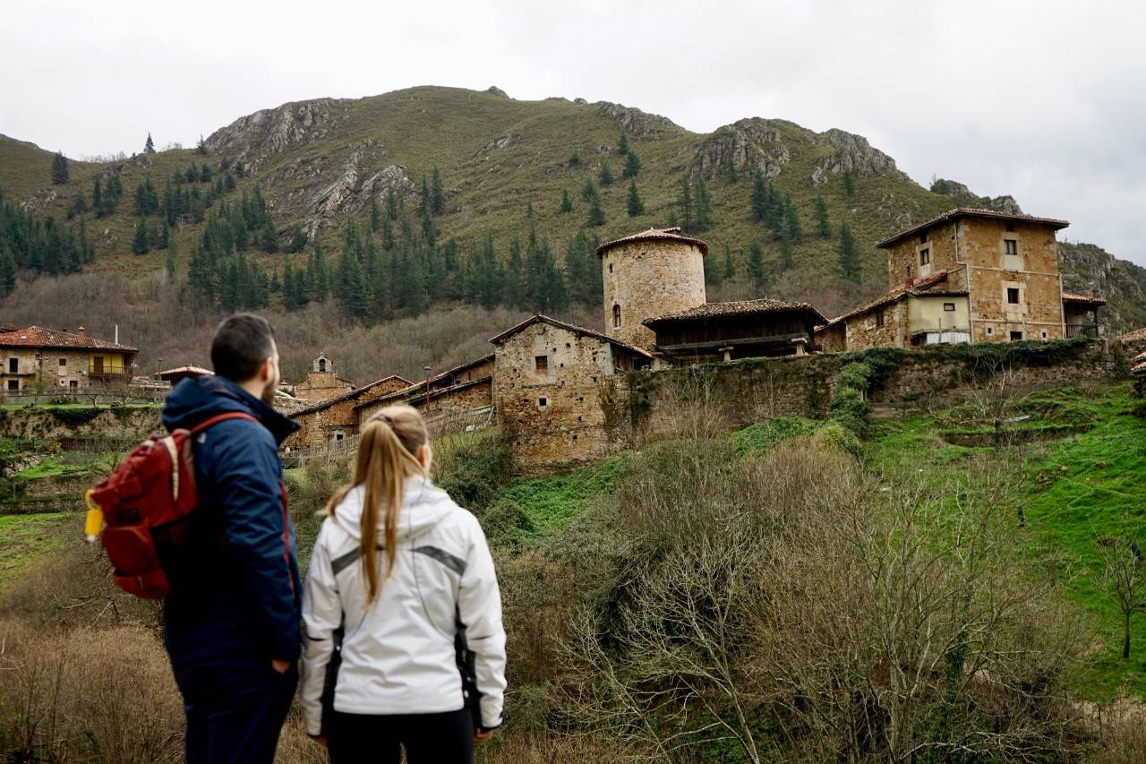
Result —
<path fill-rule="evenodd" d="M 413 85 L 618 101 L 698 132 L 779 117 L 1146 265 L 1144 30 L 1146 3 L 1102 0 L 16 0 L 0 133 L 131 154 L 148 131 L 189 147 L 285 101 Z"/>

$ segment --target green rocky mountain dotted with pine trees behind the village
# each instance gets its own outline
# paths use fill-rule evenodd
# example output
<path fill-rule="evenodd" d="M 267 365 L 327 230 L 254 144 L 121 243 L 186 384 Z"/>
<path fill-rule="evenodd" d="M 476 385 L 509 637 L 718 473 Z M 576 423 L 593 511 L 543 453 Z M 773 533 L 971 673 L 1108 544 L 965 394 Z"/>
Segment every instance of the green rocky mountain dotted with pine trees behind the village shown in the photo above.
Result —
<path fill-rule="evenodd" d="M 629 153 L 622 154 L 622 135 Z M 638 169 L 630 155 L 638 157 Z M 956 204 L 1017 206 L 1008 197 L 976 197 L 952 181 L 936 184 L 944 193 L 932 193 L 866 140 L 839 130 L 816 133 L 780 119 L 748 118 L 697 134 L 619 104 L 516 101 L 495 88 L 418 87 L 288 103 L 215 131 L 202 150 L 68 165 L 68 181 L 53 184 L 50 153 L 0 137 L 3 198 L 39 220 L 62 223 L 80 194 L 91 205 L 97 179 L 107 185 L 116 178 L 123 188 L 113 211 L 80 212 L 70 223 L 83 220 L 94 244 L 84 273 L 30 286 L 33 272 L 22 270 L 18 287 L 0 305 L 0 320 L 72 329 L 85 323 L 104 336 L 118 323 L 150 369 L 160 357 L 168 365 L 203 362 L 206 328 L 221 311 L 256 307 L 276 323 L 308 329 L 309 342 L 283 348 L 292 376 L 315 348 L 331 354 L 339 345 L 361 348 L 348 337 L 360 338 L 363 323 L 426 314 L 452 327 L 445 344 L 423 343 L 426 360 L 465 360 L 504 322 L 496 314 L 474 320 L 457 313 L 462 303 L 502 305 L 515 314 L 545 310 L 599 327 L 592 244 L 674 220 L 712 244 L 711 299 L 767 294 L 834 314 L 886 288 L 885 259 L 872 247 L 884 235 Z M 199 194 L 202 202 L 191 200 L 173 216 L 165 203 L 168 179 L 186 178 L 189 169 L 198 174 L 203 165 L 210 181 L 175 186 Z M 753 211 L 758 174 L 784 204 L 784 215 L 768 223 Z M 158 204 L 140 210 L 135 192 L 148 181 Z M 690 186 L 688 204 L 682 181 Z M 241 202 L 257 196 L 266 200 L 266 217 L 246 215 L 246 249 L 220 244 L 220 234 L 238 232 L 211 228 L 211 220 L 233 220 Z M 1069 210 L 1034 212 L 1069 217 Z M 353 245 L 346 234 L 351 219 Z M 856 242 L 856 273 L 840 264 L 845 224 Z M 173 276 L 166 249 L 133 254 L 143 249 L 140 227 L 174 242 Z M 329 293 L 320 290 L 312 272 L 299 299 L 298 289 L 286 287 L 285 271 L 288 259 L 296 272 L 313 262 L 307 237 L 316 237 L 324 251 L 331 284 Z M 203 265 L 193 263 L 202 243 L 210 260 L 207 287 Z M 347 249 L 361 276 L 346 275 Z M 1097 248 L 1065 247 L 1063 271 L 1068 287 L 1110 296 L 1114 329 L 1146 318 L 1140 268 Z M 347 278 L 351 287 L 343 289 Z M 536 294 L 557 282 L 564 282 L 562 294 Z M 149 325 L 162 326 L 163 335 Z M 393 366 L 379 368 L 353 356 L 340 360 L 360 382 L 416 373 L 422 365 L 386 358 Z"/>

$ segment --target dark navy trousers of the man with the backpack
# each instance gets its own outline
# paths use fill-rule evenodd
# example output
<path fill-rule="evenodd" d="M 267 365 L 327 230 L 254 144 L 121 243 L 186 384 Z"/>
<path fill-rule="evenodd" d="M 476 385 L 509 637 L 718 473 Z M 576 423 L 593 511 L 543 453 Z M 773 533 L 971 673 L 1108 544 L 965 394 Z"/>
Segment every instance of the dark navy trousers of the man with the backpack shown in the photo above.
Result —
<path fill-rule="evenodd" d="M 199 666 L 176 676 L 187 712 L 187 764 L 272 764 L 298 666 Z"/>

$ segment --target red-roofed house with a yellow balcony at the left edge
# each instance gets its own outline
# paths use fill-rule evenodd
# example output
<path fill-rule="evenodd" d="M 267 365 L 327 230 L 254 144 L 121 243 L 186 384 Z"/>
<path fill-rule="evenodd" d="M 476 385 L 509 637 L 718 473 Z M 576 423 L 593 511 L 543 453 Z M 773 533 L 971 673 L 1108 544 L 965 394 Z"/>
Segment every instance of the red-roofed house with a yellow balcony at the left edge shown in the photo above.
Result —
<path fill-rule="evenodd" d="M 5 395 L 80 391 L 131 383 L 139 350 L 109 340 L 30 326 L 0 334 Z"/>

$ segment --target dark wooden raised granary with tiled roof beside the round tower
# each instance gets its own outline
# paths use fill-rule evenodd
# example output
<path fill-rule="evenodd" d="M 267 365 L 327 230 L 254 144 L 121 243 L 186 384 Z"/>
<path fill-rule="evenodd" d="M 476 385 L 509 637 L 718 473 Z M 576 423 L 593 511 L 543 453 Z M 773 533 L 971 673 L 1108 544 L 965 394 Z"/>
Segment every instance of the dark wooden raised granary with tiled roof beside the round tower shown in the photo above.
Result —
<path fill-rule="evenodd" d="M 643 321 L 652 352 L 675 365 L 761 356 L 802 356 L 827 319 L 807 303 L 745 299 L 708 303 Z"/>

